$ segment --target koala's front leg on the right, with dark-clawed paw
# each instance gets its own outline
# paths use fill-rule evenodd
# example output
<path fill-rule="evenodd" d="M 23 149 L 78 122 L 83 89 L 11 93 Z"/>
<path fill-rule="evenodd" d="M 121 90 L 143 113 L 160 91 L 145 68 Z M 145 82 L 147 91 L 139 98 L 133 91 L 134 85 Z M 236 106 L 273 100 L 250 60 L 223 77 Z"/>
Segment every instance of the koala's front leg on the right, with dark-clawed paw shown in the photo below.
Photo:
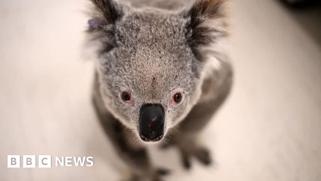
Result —
<path fill-rule="evenodd" d="M 197 140 L 199 133 L 212 119 L 228 96 L 232 84 L 232 69 L 230 64 L 221 62 L 222 69 L 214 71 L 203 82 L 200 101 L 190 111 L 187 117 L 178 126 L 179 133 L 171 136 L 181 151 L 182 162 L 185 168 L 191 166 L 190 157 L 196 157 L 205 165 L 210 165 L 210 152 Z"/>

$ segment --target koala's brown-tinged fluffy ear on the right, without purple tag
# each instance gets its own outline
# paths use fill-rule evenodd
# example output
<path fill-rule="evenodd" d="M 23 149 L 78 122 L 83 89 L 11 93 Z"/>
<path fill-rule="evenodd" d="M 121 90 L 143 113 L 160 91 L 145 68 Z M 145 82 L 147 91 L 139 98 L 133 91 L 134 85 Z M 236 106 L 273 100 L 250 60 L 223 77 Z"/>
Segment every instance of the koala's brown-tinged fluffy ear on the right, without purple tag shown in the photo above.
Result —
<path fill-rule="evenodd" d="M 188 12 L 187 41 L 196 57 L 202 59 L 200 49 L 216 43 L 228 35 L 226 4 L 228 0 L 196 0 Z"/>

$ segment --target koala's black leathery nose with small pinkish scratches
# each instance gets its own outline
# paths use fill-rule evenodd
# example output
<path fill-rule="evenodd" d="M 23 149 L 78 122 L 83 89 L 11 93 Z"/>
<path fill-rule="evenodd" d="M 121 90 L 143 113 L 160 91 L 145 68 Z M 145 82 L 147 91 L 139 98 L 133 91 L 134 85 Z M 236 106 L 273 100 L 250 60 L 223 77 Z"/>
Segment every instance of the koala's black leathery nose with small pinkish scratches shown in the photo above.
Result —
<path fill-rule="evenodd" d="M 143 141 L 159 141 L 164 136 L 164 108 L 160 104 L 144 104 L 139 115 L 139 136 Z"/>

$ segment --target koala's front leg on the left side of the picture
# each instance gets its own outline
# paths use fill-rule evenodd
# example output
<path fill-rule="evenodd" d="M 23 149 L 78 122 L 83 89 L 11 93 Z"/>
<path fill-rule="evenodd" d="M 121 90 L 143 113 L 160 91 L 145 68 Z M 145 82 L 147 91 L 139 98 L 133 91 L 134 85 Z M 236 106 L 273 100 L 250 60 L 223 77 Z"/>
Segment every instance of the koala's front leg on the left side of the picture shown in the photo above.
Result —
<path fill-rule="evenodd" d="M 137 144 L 133 131 L 126 129 L 105 107 L 99 91 L 98 74 L 95 73 L 92 102 L 99 122 L 116 149 L 120 159 L 130 169 L 129 180 L 149 178 L 157 180 L 160 175 L 168 173 L 165 169 L 152 167 L 146 148 Z"/>

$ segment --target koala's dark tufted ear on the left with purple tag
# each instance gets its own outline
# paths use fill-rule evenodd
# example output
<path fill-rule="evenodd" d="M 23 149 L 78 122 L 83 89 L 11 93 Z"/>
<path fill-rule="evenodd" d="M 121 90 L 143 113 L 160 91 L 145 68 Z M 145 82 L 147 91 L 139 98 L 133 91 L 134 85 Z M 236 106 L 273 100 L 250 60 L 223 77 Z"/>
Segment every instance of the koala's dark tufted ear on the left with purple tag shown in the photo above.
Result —
<path fill-rule="evenodd" d="M 91 0 L 91 2 L 95 6 L 91 15 L 92 19 L 88 21 L 92 30 L 99 30 L 104 25 L 115 24 L 124 14 L 121 6 L 112 0 Z"/>

